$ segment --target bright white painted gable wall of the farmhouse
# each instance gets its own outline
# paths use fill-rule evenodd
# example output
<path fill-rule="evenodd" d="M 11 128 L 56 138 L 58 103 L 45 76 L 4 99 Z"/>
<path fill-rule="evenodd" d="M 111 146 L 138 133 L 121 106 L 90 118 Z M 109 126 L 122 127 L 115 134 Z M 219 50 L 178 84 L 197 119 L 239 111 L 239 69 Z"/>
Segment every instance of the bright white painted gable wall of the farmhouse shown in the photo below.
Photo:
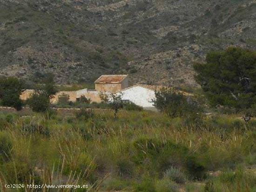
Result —
<path fill-rule="evenodd" d="M 151 102 L 155 99 L 155 91 L 147 89 L 141 86 L 132 86 L 125 90 L 121 90 L 123 93 L 123 100 L 130 100 L 138 106 L 142 107 L 154 107 Z"/>

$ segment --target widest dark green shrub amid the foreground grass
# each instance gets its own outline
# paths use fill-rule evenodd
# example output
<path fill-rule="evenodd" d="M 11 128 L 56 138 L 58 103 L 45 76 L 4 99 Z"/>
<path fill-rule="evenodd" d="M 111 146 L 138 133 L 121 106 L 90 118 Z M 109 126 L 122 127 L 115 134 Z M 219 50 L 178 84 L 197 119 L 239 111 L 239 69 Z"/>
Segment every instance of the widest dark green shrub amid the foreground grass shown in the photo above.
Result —
<path fill-rule="evenodd" d="M 134 142 L 136 165 L 143 165 L 150 170 L 149 174 L 157 175 L 166 172 L 173 166 L 182 167 L 191 179 L 203 179 L 205 167 L 191 154 L 189 149 L 172 141 L 140 138 Z M 145 162 L 147 162 L 145 164 Z M 148 164 L 148 165 L 147 165 Z"/>

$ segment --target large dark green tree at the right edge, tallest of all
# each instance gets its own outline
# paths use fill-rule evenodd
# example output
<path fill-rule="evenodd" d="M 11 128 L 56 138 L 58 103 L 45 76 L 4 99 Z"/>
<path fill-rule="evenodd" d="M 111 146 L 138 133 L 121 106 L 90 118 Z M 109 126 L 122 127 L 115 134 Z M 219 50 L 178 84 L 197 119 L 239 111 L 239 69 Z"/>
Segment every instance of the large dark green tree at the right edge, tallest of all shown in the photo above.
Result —
<path fill-rule="evenodd" d="M 212 106 L 244 110 L 256 103 L 256 52 L 237 47 L 210 52 L 206 63 L 197 63 L 194 69 Z"/>

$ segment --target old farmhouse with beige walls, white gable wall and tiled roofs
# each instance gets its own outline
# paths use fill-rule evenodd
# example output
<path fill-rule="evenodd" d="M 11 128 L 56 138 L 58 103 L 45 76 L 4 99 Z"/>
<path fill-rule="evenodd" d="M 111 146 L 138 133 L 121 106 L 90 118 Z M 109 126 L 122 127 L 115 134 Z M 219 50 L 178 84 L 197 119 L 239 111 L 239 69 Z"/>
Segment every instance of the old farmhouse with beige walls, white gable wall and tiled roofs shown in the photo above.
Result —
<path fill-rule="evenodd" d="M 122 100 L 133 102 L 138 106 L 144 108 L 152 108 L 155 99 L 155 91 L 159 91 L 163 86 L 150 86 L 145 84 L 137 84 L 128 87 L 128 75 L 101 75 L 94 82 L 95 89 L 81 89 L 78 91 L 61 91 L 54 95 L 51 99 L 52 103 L 57 103 L 59 96 L 62 94 L 69 96 L 69 101 L 75 102 L 85 96 L 90 99 L 91 102 L 100 103 L 100 93 L 110 95 L 111 93 L 120 94 L 122 93 Z M 21 95 L 20 99 L 26 100 L 30 97 L 34 90 L 25 90 Z M 183 93 L 187 94 L 187 93 Z"/>

